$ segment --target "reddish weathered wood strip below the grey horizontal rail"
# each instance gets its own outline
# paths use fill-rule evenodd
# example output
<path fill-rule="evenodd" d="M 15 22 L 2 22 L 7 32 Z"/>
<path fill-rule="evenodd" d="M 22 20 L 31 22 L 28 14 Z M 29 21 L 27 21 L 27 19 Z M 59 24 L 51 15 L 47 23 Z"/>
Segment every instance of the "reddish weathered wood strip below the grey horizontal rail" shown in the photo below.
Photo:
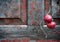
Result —
<path fill-rule="evenodd" d="M 29 39 L 14 39 L 14 40 L 2 40 L 0 42 L 60 42 L 60 40 L 29 40 Z"/>

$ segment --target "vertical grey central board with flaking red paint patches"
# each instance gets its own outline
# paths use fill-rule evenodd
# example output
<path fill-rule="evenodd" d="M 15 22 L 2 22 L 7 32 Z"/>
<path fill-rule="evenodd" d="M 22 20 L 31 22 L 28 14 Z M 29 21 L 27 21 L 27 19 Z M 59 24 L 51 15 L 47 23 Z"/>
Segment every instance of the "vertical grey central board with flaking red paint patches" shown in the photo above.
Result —
<path fill-rule="evenodd" d="M 43 15 L 44 1 L 28 0 L 28 25 L 39 25 L 43 21 Z"/>

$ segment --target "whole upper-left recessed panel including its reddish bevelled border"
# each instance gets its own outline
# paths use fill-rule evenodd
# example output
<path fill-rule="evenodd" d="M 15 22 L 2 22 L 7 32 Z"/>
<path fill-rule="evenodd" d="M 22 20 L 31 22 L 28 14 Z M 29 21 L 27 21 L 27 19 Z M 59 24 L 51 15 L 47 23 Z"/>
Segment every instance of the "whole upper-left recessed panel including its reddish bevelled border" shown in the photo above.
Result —
<path fill-rule="evenodd" d="M 0 25 L 26 24 L 26 0 L 0 0 Z"/>

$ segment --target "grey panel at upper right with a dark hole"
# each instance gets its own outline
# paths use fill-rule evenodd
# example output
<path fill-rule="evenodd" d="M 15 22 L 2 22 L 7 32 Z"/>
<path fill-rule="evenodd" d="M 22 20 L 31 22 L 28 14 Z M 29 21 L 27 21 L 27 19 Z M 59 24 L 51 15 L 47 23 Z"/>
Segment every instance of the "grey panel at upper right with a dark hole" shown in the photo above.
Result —
<path fill-rule="evenodd" d="M 53 18 L 60 18 L 60 0 L 52 0 L 51 7 Z"/>

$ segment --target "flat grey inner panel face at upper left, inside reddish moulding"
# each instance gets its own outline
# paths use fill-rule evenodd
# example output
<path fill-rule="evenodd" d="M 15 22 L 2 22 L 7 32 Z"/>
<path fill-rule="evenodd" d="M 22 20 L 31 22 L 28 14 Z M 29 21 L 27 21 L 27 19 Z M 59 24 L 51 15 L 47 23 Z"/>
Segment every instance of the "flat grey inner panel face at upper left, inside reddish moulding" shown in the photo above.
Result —
<path fill-rule="evenodd" d="M 20 0 L 0 0 L 0 18 L 20 18 Z"/>

